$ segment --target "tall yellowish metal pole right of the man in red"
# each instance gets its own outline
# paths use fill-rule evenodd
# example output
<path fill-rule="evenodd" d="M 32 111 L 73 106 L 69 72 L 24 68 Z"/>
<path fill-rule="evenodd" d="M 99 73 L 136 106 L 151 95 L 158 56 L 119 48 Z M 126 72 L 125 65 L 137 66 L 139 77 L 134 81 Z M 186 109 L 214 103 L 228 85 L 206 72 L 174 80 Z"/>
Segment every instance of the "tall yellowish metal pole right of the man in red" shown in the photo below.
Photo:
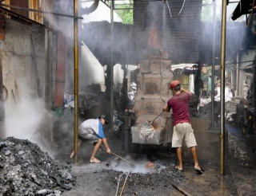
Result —
<path fill-rule="evenodd" d="M 225 174 L 226 0 L 222 0 L 220 174 Z"/>

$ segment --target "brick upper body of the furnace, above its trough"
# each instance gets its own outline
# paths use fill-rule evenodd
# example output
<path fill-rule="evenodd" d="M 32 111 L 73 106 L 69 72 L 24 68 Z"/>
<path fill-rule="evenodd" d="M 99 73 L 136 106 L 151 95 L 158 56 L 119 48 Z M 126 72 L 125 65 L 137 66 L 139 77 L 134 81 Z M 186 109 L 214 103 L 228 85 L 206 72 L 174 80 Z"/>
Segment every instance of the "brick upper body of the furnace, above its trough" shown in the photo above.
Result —
<path fill-rule="evenodd" d="M 135 116 L 157 115 L 170 98 L 169 85 L 173 79 L 170 60 L 142 60 L 137 77 L 134 100 Z"/>

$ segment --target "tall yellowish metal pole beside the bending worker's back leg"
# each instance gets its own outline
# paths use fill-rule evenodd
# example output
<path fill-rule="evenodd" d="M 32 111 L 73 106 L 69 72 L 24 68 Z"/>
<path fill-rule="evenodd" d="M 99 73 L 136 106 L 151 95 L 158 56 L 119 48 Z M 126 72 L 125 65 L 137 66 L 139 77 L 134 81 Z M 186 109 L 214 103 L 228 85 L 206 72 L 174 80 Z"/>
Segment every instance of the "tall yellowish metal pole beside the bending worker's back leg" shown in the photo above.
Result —
<path fill-rule="evenodd" d="M 78 16 L 78 0 L 74 0 L 74 17 Z M 78 18 L 74 18 L 74 163 L 78 163 Z"/>

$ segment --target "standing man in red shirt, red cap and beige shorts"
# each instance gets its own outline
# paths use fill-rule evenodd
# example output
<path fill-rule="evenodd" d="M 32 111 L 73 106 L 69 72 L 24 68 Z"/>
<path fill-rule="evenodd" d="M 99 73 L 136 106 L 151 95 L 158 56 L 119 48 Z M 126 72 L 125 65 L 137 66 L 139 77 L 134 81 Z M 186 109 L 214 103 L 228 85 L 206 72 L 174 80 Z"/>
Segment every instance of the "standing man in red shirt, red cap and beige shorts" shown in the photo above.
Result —
<path fill-rule="evenodd" d="M 190 147 L 191 154 L 194 159 L 194 170 L 198 174 L 203 174 L 202 169 L 198 164 L 197 142 L 194 137 L 194 130 L 190 124 L 189 100 L 192 93 L 181 87 L 178 80 L 173 80 L 170 83 L 170 90 L 173 92 L 173 97 L 167 102 L 167 106 L 162 108 L 163 111 L 170 112 L 173 110 L 174 117 L 174 133 L 172 138 L 172 147 L 177 148 L 178 166 L 176 168 L 182 171 L 182 141 L 185 139 L 186 146 Z"/>

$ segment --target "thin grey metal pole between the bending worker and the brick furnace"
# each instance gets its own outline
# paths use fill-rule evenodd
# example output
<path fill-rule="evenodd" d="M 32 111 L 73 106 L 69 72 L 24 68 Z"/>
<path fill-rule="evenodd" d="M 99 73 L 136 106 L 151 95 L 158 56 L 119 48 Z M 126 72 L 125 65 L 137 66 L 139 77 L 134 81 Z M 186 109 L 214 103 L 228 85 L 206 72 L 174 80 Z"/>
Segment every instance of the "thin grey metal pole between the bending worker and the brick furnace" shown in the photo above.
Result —
<path fill-rule="evenodd" d="M 114 110 L 114 0 L 111 0 L 111 109 L 110 109 L 110 136 L 113 136 L 113 110 Z"/>

